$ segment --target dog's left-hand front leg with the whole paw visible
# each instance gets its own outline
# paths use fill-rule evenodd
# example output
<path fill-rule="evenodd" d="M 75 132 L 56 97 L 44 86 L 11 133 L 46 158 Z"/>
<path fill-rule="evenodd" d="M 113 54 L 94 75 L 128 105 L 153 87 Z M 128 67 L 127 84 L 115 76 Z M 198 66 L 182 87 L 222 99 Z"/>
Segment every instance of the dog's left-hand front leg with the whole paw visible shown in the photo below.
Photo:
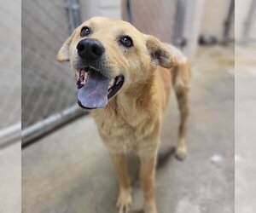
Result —
<path fill-rule="evenodd" d="M 131 185 L 127 172 L 125 154 L 110 153 L 110 156 L 119 181 L 117 207 L 119 208 L 119 213 L 128 213 L 131 207 Z"/>

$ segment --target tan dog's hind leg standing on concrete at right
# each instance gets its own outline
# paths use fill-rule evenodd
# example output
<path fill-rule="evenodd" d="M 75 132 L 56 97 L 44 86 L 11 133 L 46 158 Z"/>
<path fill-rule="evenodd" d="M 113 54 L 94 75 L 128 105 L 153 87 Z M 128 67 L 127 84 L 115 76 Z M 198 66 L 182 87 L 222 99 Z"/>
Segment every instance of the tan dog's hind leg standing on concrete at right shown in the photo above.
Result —
<path fill-rule="evenodd" d="M 178 142 L 176 158 L 183 160 L 187 157 L 187 119 L 189 117 L 189 81 L 190 69 L 188 63 L 181 63 L 174 67 L 173 87 L 177 96 L 177 105 L 180 112 L 178 127 Z"/>

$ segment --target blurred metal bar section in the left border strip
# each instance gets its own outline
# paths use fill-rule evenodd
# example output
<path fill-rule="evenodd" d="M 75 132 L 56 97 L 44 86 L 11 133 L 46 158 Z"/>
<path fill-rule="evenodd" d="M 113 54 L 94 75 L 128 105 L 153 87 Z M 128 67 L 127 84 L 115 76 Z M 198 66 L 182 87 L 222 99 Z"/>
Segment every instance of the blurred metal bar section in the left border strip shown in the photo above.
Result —
<path fill-rule="evenodd" d="M 9 146 L 15 141 L 20 141 L 21 123 L 0 130 L 0 149 Z"/>

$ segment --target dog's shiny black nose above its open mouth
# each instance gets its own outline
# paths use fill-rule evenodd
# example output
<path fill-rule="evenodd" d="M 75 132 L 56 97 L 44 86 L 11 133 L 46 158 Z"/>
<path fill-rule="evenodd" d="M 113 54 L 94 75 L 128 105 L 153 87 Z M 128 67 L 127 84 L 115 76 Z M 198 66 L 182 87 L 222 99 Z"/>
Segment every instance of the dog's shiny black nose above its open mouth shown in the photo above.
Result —
<path fill-rule="evenodd" d="M 79 56 L 87 60 L 99 59 L 105 51 L 102 43 L 94 38 L 81 40 L 77 45 L 77 49 Z"/>

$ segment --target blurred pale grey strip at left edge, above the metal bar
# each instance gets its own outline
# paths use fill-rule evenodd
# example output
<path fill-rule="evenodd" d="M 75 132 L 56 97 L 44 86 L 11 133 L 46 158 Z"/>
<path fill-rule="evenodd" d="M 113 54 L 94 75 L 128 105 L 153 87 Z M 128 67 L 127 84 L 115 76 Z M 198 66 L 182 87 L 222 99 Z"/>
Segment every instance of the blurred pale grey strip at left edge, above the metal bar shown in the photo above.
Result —
<path fill-rule="evenodd" d="M 0 6 L 0 131 L 20 122 L 20 4 L 14 0 Z"/>

